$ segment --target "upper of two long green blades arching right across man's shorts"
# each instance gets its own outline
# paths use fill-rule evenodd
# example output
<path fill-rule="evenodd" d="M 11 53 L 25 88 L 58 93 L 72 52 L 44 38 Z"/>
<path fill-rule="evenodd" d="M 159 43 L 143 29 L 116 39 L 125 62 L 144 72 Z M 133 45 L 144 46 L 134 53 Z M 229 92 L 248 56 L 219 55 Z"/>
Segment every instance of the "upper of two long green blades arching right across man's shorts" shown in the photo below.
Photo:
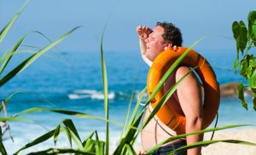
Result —
<path fill-rule="evenodd" d="M 200 135 L 200 134 L 205 134 L 207 132 L 212 132 L 212 131 L 218 131 L 218 130 L 223 130 L 223 129 L 232 129 L 232 128 L 238 128 L 238 127 L 246 127 L 246 126 L 256 126 L 256 125 L 253 125 L 253 124 L 228 125 L 228 126 L 224 126 L 224 127 L 218 127 L 218 128 L 212 128 L 212 129 L 202 129 L 202 130 L 199 130 L 199 131 L 196 131 L 196 132 L 193 132 L 193 133 L 172 136 L 172 137 L 166 139 L 165 141 L 161 141 L 158 145 L 152 147 L 146 153 L 150 154 L 151 152 L 154 152 L 155 149 L 162 146 L 163 144 L 166 144 L 167 142 L 170 142 L 170 141 L 175 141 L 175 140 L 180 139 L 180 138 L 184 138 L 188 135 Z"/>

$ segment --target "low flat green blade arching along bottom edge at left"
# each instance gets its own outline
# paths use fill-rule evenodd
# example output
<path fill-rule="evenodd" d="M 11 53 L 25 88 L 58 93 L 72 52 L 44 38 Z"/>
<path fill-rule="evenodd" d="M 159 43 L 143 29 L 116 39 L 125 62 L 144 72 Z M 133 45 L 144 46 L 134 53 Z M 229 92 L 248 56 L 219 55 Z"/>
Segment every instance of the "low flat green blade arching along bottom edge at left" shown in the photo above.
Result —
<path fill-rule="evenodd" d="M 84 155 L 94 155 L 95 152 L 84 152 L 82 150 L 75 150 L 71 148 L 48 148 L 44 151 L 39 152 L 30 152 L 27 155 L 45 155 L 45 154 L 65 154 L 65 153 L 77 153 L 77 154 L 84 154 Z"/>

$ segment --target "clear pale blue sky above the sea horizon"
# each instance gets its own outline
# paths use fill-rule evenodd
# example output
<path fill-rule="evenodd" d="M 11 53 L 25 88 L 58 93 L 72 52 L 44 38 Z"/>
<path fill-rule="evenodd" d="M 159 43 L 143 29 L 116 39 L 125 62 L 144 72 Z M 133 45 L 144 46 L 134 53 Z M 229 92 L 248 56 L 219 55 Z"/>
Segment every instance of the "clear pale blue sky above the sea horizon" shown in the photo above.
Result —
<path fill-rule="evenodd" d="M 0 0 L 0 28 L 25 2 Z M 107 21 L 103 46 L 108 51 L 137 51 L 136 27 L 154 27 L 157 21 L 170 21 L 178 26 L 185 47 L 200 37 L 209 36 L 195 49 L 235 49 L 232 22 L 247 21 L 248 12 L 255 7 L 254 0 L 31 0 L 0 49 L 11 48 L 22 35 L 33 30 L 54 40 L 75 26 L 83 26 L 59 48 L 64 51 L 98 50 Z M 35 33 L 29 33 L 26 38 L 29 45 L 46 43 Z"/>

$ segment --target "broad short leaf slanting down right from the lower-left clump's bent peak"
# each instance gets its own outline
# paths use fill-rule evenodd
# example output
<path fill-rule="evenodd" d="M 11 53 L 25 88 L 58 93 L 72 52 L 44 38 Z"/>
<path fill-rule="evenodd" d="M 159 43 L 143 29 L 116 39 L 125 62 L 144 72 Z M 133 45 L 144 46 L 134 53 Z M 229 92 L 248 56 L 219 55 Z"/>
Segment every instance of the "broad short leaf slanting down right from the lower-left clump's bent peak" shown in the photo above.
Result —
<path fill-rule="evenodd" d="M 71 134 L 71 137 L 73 138 L 73 141 L 79 147 L 79 150 L 83 150 L 84 147 L 83 147 L 82 141 L 81 141 L 81 139 L 79 137 L 79 133 L 78 133 L 76 127 L 73 124 L 73 121 L 71 119 L 65 119 L 63 121 L 63 124 L 68 129 L 69 133 Z"/>

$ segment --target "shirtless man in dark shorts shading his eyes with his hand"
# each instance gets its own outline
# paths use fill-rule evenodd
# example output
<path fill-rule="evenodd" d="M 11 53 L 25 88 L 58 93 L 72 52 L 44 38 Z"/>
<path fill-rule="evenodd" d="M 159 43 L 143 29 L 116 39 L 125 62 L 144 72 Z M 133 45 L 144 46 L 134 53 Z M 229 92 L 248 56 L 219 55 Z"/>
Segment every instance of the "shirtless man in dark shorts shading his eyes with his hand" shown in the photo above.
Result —
<path fill-rule="evenodd" d="M 140 40 L 141 53 L 143 60 L 150 66 L 152 61 L 162 51 L 166 49 L 176 49 L 182 45 L 182 34 L 172 23 L 158 22 L 153 30 L 148 26 L 137 26 L 137 34 Z M 174 83 L 189 72 L 189 67 L 179 66 L 170 78 L 164 84 L 165 92 L 172 87 Z M 170 104 L 172 108 L 179 114 L 186 117 L 186 133 L 195 132 L 203 129 L 203 111 L 201 104 L 201 86 L 193 73 L 190 73 L 178 86 L 176 92 L 170 97 L 166 104 Z M 152 112 L 152 107 L 148 106 L 143 121 L 148 118 Z M 166 140 L 170 136 L 183 133 L 177 133 L 169 129 L 164 123 L 154 116 L 142 132 L 143 149 L 148 150 L 161 141 Z M 172 150 L 202 141 L 203 135 L 189 135 L 186 139 L 171 141 L 163 146 L 160 146 L 153 154 L 166 154 Z M 201 154 L 201 147 L 189 149 L 176 154 Z"/>

